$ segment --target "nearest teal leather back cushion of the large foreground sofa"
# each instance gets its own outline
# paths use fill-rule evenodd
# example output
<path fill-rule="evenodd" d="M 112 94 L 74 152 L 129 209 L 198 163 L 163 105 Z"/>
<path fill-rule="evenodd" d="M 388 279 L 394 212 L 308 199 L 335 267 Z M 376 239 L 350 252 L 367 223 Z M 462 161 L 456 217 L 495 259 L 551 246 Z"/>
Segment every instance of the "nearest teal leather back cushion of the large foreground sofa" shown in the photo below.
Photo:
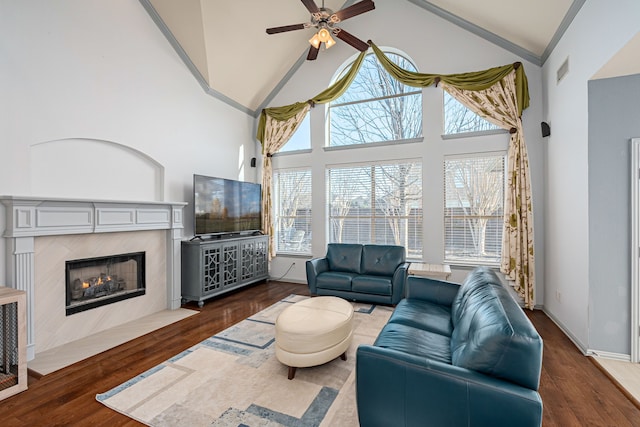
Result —
<path fill-rule="evenodd" d="M 538 389 L 542 339 L 504 287 L 492 282 L 475 286 L 457 311 L 451 335 L 454 365 Z"/>

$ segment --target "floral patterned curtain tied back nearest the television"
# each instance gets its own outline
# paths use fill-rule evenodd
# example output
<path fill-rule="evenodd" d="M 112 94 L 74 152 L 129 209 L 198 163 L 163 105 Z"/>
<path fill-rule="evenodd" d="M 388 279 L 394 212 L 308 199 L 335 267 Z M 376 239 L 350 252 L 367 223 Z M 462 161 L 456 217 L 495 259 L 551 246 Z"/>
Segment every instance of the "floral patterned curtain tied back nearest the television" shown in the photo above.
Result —
<path fill-rule="evenodd" d="M 265 130 L 262 140 L 262 228 L 263 232 L 269 235 L 270 257 L 276 255 L 271 202 L 271 189 L 273 188 L 271 155 L 277 153 L 289 141 L 310 108 L 311 104 L 306 103 L 300 111 L 288 120 L 277 120 L 269 115 L 265 116 Z"/>

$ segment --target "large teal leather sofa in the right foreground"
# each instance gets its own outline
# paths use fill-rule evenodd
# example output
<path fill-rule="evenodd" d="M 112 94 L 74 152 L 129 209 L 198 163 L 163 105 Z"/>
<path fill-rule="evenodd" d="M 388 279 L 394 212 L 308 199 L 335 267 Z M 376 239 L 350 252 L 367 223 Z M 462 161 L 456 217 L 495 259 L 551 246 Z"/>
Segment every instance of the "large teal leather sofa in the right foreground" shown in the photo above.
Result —
<path fill-rule="evenodd" d="M 542 424 L 542 339 L 492 270 L 409 276 L 406 291 L 356 351 L 361 427 Z"/>

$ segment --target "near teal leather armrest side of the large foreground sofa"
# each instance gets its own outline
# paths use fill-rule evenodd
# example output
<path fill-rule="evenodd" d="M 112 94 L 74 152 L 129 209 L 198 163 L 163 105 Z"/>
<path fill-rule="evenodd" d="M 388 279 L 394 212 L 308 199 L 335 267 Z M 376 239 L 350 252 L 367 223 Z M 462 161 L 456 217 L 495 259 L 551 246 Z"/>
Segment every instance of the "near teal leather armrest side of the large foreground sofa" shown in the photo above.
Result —
<path fill-rule="evenodd" d="M 356 352 L 356 400 L 361 427 L 542 425 L 535 390 L 371 345 Z"/>

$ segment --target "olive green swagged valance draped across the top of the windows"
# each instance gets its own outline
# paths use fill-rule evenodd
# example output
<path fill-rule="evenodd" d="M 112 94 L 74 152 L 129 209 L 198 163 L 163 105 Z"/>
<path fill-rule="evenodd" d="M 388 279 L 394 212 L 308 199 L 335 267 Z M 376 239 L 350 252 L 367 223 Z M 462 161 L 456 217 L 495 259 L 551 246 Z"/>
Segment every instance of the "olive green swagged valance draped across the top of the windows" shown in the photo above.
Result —
<path fill-rule="evenodd" d="M 382 52 L 378 48 L 378 46 L 376 46 L 371 40 L 369 40 L 369 45 L 371 46 L 373 53 L 378 58 L 378 61 L 380 61 L 382 66 L 385 68 L 385 70 L 387 70 L 389 74 L 391 74 L 400 82 L 413 87 L 427 87 L 433 84 L 437 85 L 440 81 L 443 81 L 458 89 L 473 91 L 484 90 L 502 80 L 506 75 L 508 75 L 515 69 L 516 97 L 518 102 L 519 115 L 521 116 L 522 112 L 526 110 L 527 107 L 529 107 L 529 86 L 527 82 L 527 76 L 524 72 L 524 67 L 522 67 L 522 64 L 520 62 L 503 65 L 501 67 L 489 68 L 488 70 L 484 71 L 473 71 L 469 73 L 426 74 L 407 71 L 403 68 L 400 68 L 393 61 L 391 61 L 384 54 L 384 52 Z M 333 85 L 329 86 L 327 89 L 309 99 L 308 101 L 296 102 L 294 104 L 285 105 L 282 107 L 264 108 L 260 113 L 260 120 L 258 122 L 258 131 L 256 135 L 258 141 L 260 141 L 260 143 L 263 145 L 263 154 L 264 132 L 267 115 L 275 120 L 285 121 L 291 119 L 300 111 L 302 111 L 306 104 L 326 104 L 335 99 L 338 99 L 349 88 L 351 82 L 353 82 L 353 79 L 358 74 L 358 70 L 360 69 L 362 61 L 364 61 L 366 54 L 366 51 L 361 52 L 349 69 L 349 72 L 347 72 L 342 78 L 340 78 L 340 80 L 336 81 Z"/>

